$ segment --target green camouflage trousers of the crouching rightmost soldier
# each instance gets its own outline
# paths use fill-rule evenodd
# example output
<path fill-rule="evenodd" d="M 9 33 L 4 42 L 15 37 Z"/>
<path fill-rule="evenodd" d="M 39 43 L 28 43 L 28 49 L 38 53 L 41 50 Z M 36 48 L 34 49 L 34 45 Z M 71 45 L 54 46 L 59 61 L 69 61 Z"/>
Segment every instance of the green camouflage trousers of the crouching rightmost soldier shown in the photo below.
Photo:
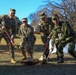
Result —
<path fill-rule="evenodd" d="M 68 53 L 73 56 L 74 58 L 76 58 L 76 51 L 75 49 L 75 43 L 70 41 L 70 42 L 59 42 L 56 44 L 56 48 L 57 48 L 57 57 L 63 57 L 63 48 L 68 44 Z"/>

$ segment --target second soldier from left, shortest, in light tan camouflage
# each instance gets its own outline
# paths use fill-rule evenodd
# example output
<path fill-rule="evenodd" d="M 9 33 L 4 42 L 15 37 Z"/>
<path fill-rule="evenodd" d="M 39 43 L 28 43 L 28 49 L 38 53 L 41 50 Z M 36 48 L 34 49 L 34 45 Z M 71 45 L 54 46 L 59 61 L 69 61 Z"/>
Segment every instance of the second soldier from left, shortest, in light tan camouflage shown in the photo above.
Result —
<path fill-rule="evenodd" d="M 34 36 L 34 29 L 32 26 L 28 25 L 27 18 L 22 18 L 22 24 L 19 29 L 19 34 L 21 35 L 21 43 L 20 43 L 20 49 L 22 50 L 23 59 L 27 59 L 26 52 L 29 57 L 33 58 L 33 47 L 35 44 L 35 36 Z"/>

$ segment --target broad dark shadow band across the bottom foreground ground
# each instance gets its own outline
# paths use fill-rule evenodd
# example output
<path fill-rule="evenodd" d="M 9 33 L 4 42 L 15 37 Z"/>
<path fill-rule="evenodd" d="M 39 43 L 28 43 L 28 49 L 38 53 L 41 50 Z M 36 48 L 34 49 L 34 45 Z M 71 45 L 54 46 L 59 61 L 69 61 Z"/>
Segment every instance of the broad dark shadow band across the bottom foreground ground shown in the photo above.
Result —
<path fill-rule="evenodd" d="M 76 64 L 0 65 L 0 75 L 76 75 Z"/>

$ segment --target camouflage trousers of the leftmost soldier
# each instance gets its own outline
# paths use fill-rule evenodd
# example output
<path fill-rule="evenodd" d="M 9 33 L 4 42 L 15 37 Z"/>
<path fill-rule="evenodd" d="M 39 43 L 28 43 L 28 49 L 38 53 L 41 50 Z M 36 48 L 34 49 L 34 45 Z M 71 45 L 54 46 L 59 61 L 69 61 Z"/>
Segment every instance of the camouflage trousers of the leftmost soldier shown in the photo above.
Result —
<path fill-rule="evenodd" d="M 9 38 L 5 32 L 0 33 L 0 42 L 1 42 L 2 38 L 4 38 L 7 43 L 7 46 L 8 46 L 9 52 L 10 52 L 10 57 L 14 58 L 14 46 L 11 44 L 11 41 L 9 40 Z"/>

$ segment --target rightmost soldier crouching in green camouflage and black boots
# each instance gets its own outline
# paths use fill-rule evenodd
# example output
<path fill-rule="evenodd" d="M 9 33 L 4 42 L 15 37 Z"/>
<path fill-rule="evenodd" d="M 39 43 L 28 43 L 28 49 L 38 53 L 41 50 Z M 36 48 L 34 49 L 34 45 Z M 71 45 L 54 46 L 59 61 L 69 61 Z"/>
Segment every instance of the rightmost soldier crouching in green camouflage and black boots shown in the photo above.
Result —
<path fill-rule="evenodd" d="M 52 16 L 52 21 L 54 23 L 54 28 L 50 33 L 49 37 L 52 36 L 52 50 L 54 48 L 54 44 L 57 48 L 57 63 L 63 63 L 63 47 L 67 44 L 68 46 L 68 53 L 72 55 L 76 59 L 76 51 L 75 42 L 74 42 L 74 35 L 73 30 L 70 27 L 68 22 L 61 22 L 59 21 L 59 17 L 57 14 Z"/>

